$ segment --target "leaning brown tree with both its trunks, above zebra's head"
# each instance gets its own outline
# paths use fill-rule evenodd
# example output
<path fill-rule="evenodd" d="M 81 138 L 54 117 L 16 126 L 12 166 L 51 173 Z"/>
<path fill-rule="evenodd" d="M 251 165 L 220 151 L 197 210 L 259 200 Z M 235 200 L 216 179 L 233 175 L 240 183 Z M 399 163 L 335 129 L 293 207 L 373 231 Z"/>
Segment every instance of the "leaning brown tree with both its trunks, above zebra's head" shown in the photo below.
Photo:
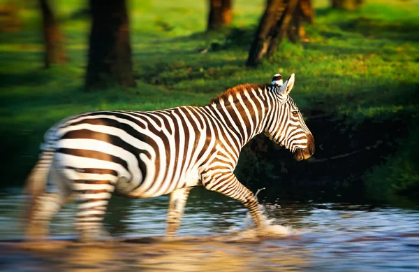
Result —
<path fill-rule="evenodd" d="M 307 39 L 302 21 L 314 21 L 310 0 L 267 0 L 246 65 L 256 66 L 263 57 L 272 55 L 286 34 L 293 42 Z"/>

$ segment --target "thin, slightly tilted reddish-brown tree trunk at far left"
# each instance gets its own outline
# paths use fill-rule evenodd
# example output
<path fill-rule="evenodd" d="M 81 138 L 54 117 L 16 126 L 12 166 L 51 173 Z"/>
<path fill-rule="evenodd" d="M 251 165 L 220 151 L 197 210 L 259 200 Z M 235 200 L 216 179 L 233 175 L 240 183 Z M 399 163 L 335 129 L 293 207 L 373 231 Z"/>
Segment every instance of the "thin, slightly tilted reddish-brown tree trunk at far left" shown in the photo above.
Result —
<path fill-rule="evenodd" d="M 66 63 L 66 53 L 64 52 L 64 37 L 59 31 L 57 20 L 52 13 L 47 0 L 39 0 L 43 16 L 43 36 L 45 43 L 45 68 L 50 64 Z"/>

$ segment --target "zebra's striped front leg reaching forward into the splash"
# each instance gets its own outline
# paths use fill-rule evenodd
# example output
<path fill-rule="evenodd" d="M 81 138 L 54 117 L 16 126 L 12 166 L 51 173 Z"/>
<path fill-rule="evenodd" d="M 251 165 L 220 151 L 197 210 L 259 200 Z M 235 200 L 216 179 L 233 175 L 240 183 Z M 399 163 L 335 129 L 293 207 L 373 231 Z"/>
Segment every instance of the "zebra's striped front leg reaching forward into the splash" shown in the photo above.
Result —
<path fill-rule="evenodd" d="M 206 189 L 219 192 L 236 199 L 249 209 L 251 218 L 258 229 L 265 228 L 265 220 L 259 209 L 256 196 L 235 177 L 232 172 L 214 173 L 207 176 L 203 173 L 203 185 Z"/>

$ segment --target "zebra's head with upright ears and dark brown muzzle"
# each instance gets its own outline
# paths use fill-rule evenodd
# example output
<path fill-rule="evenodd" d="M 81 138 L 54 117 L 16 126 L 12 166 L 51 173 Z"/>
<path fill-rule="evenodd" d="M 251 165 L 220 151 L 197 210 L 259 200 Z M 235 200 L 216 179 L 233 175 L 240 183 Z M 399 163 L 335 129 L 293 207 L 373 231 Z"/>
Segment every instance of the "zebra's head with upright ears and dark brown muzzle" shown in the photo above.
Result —
<path fill-rule="evenodd" d="M 314 153 L 314 138 L 304 123 L 300 110 L 289 93 L 294 86 L 294 74 L 282 83 L 282 77 L 276 74 L 272 78 L 272 93 L 276 100 L 270 121 L 265 127 L 265 135 L 275 143 L 293 152 L 295 159 L 308 159 Z"/>

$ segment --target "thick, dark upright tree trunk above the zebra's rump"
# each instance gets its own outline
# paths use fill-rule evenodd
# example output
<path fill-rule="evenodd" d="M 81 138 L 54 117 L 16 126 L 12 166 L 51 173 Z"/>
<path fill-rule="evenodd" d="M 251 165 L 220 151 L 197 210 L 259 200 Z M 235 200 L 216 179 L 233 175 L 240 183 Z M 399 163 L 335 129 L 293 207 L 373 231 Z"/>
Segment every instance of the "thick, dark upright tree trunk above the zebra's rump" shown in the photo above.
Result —
<path fill-rule="evenodd" d="M 86 90 L 117 85 L 135 87 L 125 0 L 90 0 L 91 33 Z"/>

